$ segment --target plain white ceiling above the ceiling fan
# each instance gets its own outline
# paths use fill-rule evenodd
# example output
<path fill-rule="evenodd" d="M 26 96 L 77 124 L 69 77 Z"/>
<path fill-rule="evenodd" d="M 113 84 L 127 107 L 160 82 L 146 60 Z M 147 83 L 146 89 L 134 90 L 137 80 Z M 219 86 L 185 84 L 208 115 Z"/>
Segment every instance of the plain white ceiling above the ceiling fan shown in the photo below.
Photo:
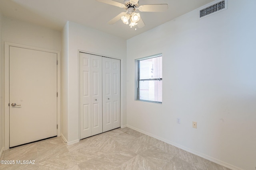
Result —
<path fill-rule="evenodd" d="M 123 3 L 123 0 L 116 1 Z M 0 11 L 8 18 L 51 29 L 62 30 L 67 21 L 72 21 L 129 39 L 212 1 L 214 0 L 140 0 L 140 5 L 168 4 L 169 8 L 167 12 L 140 12 L 146 25 L 137 31 L 130 29 L 121 20 L 108 25 L 109 20 L 125 10 L 96 0 L 0 0 Z"/>

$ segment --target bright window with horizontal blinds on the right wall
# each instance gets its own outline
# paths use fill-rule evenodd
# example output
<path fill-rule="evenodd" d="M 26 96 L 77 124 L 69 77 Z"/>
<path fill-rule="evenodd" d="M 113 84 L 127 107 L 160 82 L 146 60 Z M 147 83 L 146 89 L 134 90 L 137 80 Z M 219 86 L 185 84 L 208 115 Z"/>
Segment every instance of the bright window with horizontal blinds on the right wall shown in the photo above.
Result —
<path fill-rule="evenodd" d="M 136 100 L 162 103 L 162 55 L 136 60 Z"/>

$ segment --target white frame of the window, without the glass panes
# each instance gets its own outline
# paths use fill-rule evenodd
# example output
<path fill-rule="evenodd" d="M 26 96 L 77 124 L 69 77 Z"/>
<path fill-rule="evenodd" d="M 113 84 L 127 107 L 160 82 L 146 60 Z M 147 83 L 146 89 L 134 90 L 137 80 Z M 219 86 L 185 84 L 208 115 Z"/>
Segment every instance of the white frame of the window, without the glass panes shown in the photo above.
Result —
<path fill-rule="evenodd" d="M 156 80 L 161 80 L 162 78 L 152 78 L 152 79 L 140 79 L 140 72 L 139 72 L 139 64 L 140 61 L 142 60 L 146 60 L 146 59 L 152 59 L 152 58 L 156 58 L 156 57 L 163 57 L 162 53 L 161 54 L 157 54 L 157 55 L 152 55 L 149 57 L 143 57 L 140 59 L 136 59 L 135 60 L 135 100 L 137 101 L 142 101 L 142 102 L 150 102 L 150 103 L 156 103 L 156 104 L 162 104 L 162 102 L 158 102 L 158 101 L 152 101 L 152 100 L 142 100 L 140 99 L 140 81 L 156 81 Z M 163 89 L 163 87 L 162 87 Z"/>

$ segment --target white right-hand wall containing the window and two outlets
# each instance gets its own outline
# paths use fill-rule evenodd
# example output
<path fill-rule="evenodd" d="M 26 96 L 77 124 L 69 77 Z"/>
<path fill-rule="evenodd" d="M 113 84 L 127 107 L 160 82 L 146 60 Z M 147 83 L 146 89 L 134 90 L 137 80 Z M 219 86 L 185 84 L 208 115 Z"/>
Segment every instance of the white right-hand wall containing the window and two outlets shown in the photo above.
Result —
<path fill-rule="evenodd" d="M 201 20 L 194 10 L 129 39 L 128 126 L 230 168 L 254 170 L 255 6 L 229 0 L 228 10 Z M 135 101 L 134 59 L 158 53 L 163 103 Z"/>

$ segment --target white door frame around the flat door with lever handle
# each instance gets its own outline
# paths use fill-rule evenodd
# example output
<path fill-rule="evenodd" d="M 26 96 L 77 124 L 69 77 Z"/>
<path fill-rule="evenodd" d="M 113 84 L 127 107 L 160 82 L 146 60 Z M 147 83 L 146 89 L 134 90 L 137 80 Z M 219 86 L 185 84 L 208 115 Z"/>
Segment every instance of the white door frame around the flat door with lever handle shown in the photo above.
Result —
<path fill-rule="evenodd" d="M 50 52 L 50 53 L 56 53 L 57 54 L 57 136 L 60 136 L 61 134 L 61 124 L 60 124 L 60 51 L 54 51 L 49 49 L 42 49 L 38 47 L 32 47 L 27 45 L 20 45 L 15 43 L 9 43 L 4 42 L 4 150 L 8 150 L 10 148 L 10 109 L 9 109 L 9 58 L 10 58 L 10 47 L 20 47 L 24 49 L 31 49 L 31 50 L 38 50 L 38 51 L 44 51 L 44 52 Z M 57 64 L 57 63 L 56 63 Z"/>

